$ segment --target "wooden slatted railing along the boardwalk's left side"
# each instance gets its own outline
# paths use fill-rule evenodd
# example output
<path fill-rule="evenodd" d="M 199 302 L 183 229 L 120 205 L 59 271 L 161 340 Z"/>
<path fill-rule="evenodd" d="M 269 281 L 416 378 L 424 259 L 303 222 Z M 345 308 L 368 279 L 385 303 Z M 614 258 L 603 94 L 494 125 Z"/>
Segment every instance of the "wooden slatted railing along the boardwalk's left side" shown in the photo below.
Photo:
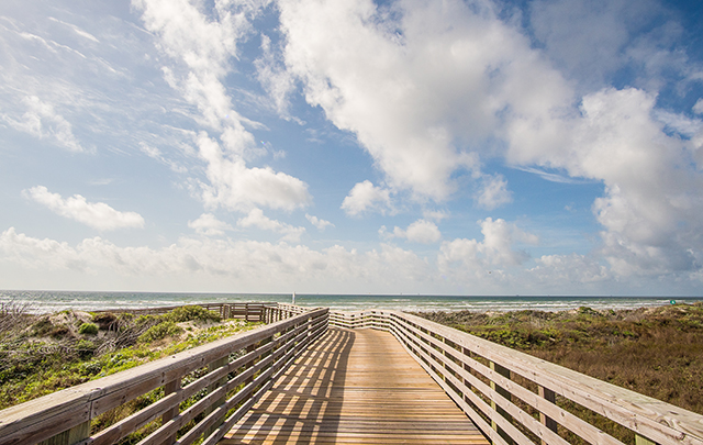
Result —
<path fill-rule="evenodd" d="M 0 444 L 216 444 L 327 329 L 327 309 L 265 312 L 283 320 L 0 411 Z"/>

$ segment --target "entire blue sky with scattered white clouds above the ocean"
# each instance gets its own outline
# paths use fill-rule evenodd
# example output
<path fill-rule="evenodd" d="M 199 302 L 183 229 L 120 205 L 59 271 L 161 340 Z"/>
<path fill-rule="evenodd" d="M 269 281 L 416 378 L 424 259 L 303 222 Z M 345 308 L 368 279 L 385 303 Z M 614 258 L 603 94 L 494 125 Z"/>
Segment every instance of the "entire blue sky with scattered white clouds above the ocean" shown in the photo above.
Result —
<path fill-rule="evenodd" d="M 0 288 L 703 294 L 700 2 L 0 5 Z"/>

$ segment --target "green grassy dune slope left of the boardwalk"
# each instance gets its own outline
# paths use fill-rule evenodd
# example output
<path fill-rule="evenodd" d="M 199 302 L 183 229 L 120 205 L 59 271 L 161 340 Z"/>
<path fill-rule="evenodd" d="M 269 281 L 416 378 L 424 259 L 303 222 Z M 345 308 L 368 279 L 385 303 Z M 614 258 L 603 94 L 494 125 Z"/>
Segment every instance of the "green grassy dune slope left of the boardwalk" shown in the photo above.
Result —
<path fill-rule="evenodd" d="M 0 308 L 0 410 L 212 342 L 259 323 L 201 307 L 164 315 Z"/>

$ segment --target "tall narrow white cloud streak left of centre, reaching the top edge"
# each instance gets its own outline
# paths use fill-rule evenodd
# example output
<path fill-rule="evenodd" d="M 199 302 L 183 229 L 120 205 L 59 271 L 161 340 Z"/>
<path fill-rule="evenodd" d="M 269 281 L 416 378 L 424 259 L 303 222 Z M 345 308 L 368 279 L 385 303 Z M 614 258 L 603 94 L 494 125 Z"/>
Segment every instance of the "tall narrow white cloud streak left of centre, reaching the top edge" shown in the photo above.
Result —
<path fill-rule="evenodd" d="M 164 78 L 183 99 L 197 107 L 197 121 L 215 133 L 198 136 L 199 155 L 208 164 L 209 183 L 201 182 L 202 199 L 210 208 L 249 210 L 253 207 L 292 210 L 310 202 L 308 186 L 270 167 L 249 168 L 247 159 L 266 153 L 248 127 L 260 126 L 233 104 L 223 84 L 233 70 L 237 44 L 250 31 L 248 18 L 263 3 L 242 3 L 235 9 L 217 3 L 211 14 L 186 0 L 135 0 L 156 45 L 171 63 Z"/>

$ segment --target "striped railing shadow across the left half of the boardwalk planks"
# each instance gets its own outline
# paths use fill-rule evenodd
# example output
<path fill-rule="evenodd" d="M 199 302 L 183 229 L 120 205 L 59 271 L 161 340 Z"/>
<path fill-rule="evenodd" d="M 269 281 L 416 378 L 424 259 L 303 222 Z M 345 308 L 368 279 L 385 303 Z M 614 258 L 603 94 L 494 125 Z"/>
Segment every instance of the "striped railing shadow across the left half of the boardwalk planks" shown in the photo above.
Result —
<path fill-rule="evenodd" d="M 299 358 L 276 386 L 220 444 L 310 443 L 337 432 L 344 382 L 356 334 L 327 331 L 319 346 Z M 282 413 L 282 414 L 280 414 Z M 282 423 L 281 423 L 282 422 Z"/>

